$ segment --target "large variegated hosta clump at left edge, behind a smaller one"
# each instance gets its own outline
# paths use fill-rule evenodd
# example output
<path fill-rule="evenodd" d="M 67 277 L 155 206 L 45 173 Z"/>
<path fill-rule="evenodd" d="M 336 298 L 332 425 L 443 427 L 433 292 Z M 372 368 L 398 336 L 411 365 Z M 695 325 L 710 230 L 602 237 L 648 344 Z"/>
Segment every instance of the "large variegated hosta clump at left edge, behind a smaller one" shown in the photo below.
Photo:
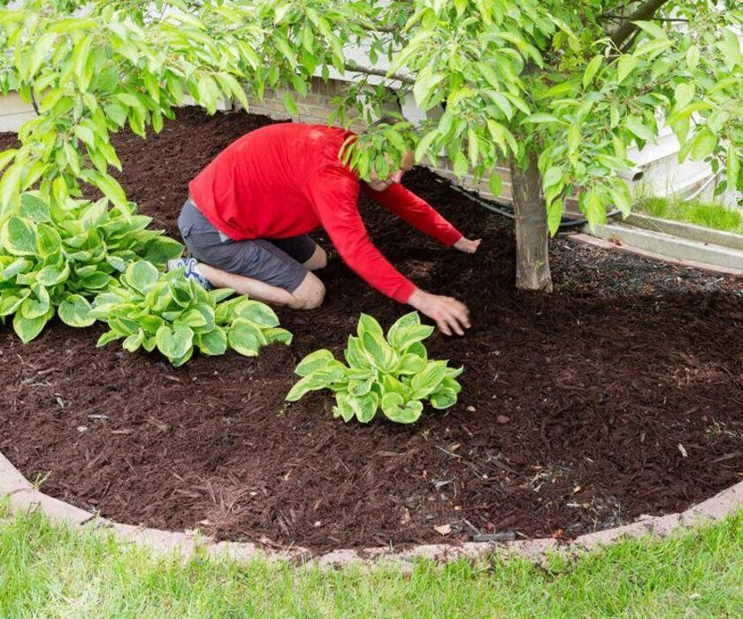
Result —
<path fill-rule="evenodd" d="M 178 241 L 146 230 L 150 221 L 134 204 L 68 199 L 62 209 L 36 191 L 21 194 L 0 214 L 0 320 L 14 315 L 24 342 L 57 308 L 67 325 L 92 325 L 87 300 L 116 285 L 127 264 L 138 258 L 165 264 L 182 253 Z"/>

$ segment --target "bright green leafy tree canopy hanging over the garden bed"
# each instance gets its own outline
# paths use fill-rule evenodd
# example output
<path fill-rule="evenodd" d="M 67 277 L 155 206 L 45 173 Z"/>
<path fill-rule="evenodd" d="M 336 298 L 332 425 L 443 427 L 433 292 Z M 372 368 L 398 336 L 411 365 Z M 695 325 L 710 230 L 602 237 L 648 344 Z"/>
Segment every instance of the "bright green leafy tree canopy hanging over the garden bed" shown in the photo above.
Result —
<path fill-rule="evenodd" d="M 8 4 L 8 3 L 4 3 Z M 653 141 L 661 119 L 680 158 L 724 167 L 720 185 L 743 188 L 743 11 L 736 0 L 28 0 L 0 11 L 0 87 L 40 113 L 22 146 L 0 156 L 0 206 L 39 183 L 50 203 L 99 187 L 126 196 L 108 173 L 109 134 L 144 136 L 192 96 L 249 108 L 265 88 L 299 95 L 310 78 L 353 74 L 338 97 L 379 112 L 412 93 L 432 112 L 364 135 L 349 151 L 362 175 L 383 174 L 405 149 L 445 153 L 457 174 L 490 177 L 497 161 L 540 172 L 550 231 L 566 195 L 592 223 L 632 201 L 627 149 Z M 368 62 L 349 52 L 362 47 Z M 375 78 L 381 84 L 370 85 Z M 394 92 L 385 85 L 394 86 Z M 395 94 L 396 93 L 396 94 Z M 285 95 L 287 111 L 295 99 Z"/>

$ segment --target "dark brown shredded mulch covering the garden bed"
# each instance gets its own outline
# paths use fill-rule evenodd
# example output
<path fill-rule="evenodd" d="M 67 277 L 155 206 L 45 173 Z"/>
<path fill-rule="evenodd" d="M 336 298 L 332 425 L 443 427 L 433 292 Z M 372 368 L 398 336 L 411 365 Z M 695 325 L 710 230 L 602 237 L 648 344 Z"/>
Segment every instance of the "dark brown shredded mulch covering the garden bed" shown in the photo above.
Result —
<path fill-rule="evenodd" d="M 151 140 L 118 137 L 120 178 L 177 235 L 188 180 L 267 122 L 180 111 Z M 323 307 L 280 310 L 295 344 L 256 359 L 173 370 L 157 355 L 96 348 L 99 327 L 55 322 L 28 346 L 0 329 L 0 451 L 44 492 L 120 522 L 317 551 L 437 542 L 443 524 L 446 539 L 570 538 L 740 480 L 741 279 L 567 237 L 551 244 L 555 293 L 519 293 L 508 225 L 431 172 L 405 182 L 484 239 L 475 256 L 444 250 L 362 205 L 403 273 L 471 308 L 466 337 L 428 344 L 465 368 L 453 409 L 412 427 L 364 426 L 333 419 L 326 393 L 284 403 L 295 363 L 340 351 L 359 312 L 389 325 L 405 311 L 332 256 Z"/>

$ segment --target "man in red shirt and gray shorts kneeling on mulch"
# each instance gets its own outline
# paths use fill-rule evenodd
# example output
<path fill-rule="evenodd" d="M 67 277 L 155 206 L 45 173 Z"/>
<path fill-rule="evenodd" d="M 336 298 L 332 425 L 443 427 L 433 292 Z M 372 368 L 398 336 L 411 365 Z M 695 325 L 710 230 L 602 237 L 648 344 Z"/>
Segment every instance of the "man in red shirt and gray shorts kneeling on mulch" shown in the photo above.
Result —
<path fill-rule="evenodd" d="M 402 276 L 372 245 L 358 212 L 359 191 L 445 246 L 473 253 L 470 241 L 400 180 L 413 165 L 379 179 L 359 180 L 341 163 L 349 132 L 281 123 L 234 141 L 189 184 L 178 218 L 191 258 L 171 261 L 206 287 L 233 288 L 259 301 L 317 308 L 325 287 L 311 271 L 326 252 L 307 233 L 319 226 L 341 258 L 372 287 L 433 318 L 441 332 L 463 334 L 469 312 L 451 297 L 429 294 Z"/>

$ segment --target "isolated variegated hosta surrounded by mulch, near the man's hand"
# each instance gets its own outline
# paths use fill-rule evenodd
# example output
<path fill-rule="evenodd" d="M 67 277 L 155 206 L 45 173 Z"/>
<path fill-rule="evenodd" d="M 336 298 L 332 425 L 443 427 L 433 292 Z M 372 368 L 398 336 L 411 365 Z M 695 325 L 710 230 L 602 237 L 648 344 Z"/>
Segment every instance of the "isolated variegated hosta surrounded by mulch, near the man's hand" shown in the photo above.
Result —
<path fill-rule="evenodd" d="M 430 361 L 423 340 L 433 326 L 421 325 L 417 312 L 401 317 L 387 331 L 371 316 L 362 314 L 356 336 L 349 337 L 346 363 L 325 348 L 316 350 L 297 365 L 302 378 L 287 394 L 297 401 L 310 391 L 335 393 L 333 415 L 349 422 L 369 423 L 377 411 L 401 424 L 412 424 L 428 401 L 434 409 L 448 409 L 462 387 L 456 377 L 462 368 L 446 361 Z"/>

